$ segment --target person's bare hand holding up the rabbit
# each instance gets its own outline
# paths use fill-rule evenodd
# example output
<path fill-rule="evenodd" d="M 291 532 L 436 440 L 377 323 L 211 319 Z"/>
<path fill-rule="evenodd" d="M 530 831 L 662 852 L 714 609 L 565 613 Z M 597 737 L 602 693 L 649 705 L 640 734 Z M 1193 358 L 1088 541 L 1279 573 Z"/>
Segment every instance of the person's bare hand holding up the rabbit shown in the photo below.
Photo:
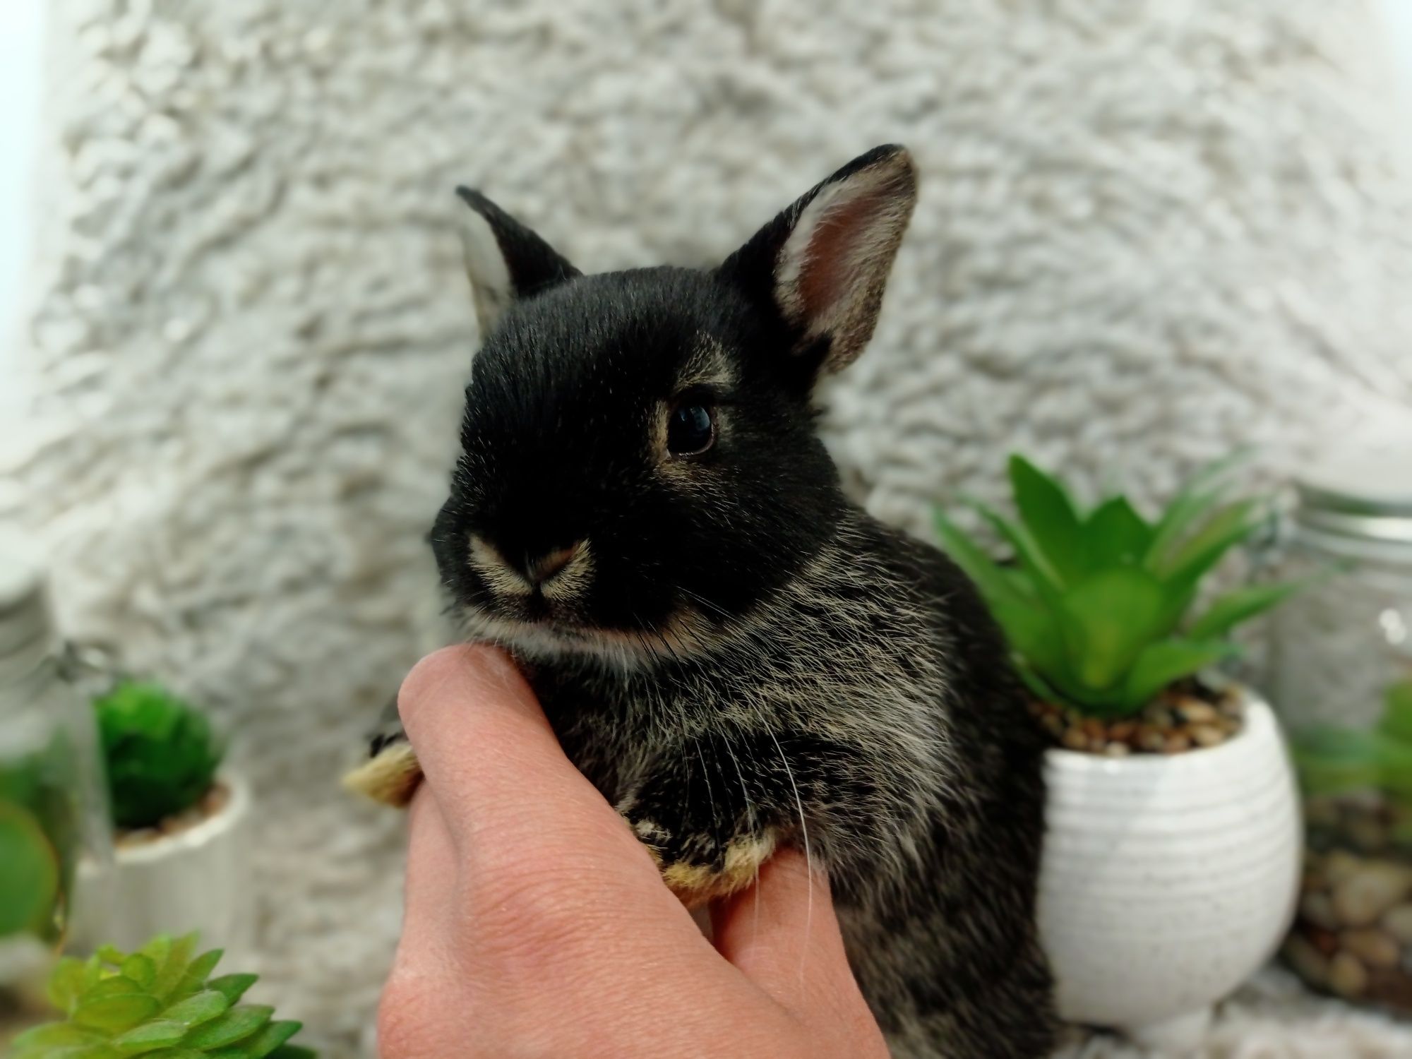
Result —
<path fill-rule="evenodd" d="M 503 654 L 426 657 L 398 709 L 425 781 L 384 1059 L 887 1059 L 799 853 L 713 907 L 709 940 Z"/>

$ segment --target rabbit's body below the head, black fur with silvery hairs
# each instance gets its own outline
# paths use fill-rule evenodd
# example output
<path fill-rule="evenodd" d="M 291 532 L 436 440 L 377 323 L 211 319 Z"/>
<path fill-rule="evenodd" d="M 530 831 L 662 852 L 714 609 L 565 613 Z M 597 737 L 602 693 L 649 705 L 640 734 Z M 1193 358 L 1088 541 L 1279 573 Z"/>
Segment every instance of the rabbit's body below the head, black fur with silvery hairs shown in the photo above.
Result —
<path fill-rule="evenodd" d="M 664 655 L 537 664 L 532 681 L 674 890 L 722 897 L 777 844 L 808 847 L 897 1055 L 936 1055 L 939 1031 L 960 1036 L 947 1055 L 998 1055 L 963 1039 L 994 1018 L 1012 1055 L 1042 1053 L 1042 746 L 950 563 L 854 513 L 744 628 Z M 976 1032 L 977 1048 L 995 1039 Z"/>

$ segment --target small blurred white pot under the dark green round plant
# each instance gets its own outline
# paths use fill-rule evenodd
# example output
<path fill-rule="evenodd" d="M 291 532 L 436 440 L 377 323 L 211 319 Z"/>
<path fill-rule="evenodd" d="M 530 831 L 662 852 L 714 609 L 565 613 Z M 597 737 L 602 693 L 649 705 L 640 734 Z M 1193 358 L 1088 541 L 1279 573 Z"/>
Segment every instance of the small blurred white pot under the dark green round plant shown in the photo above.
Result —
<path fill-rule="evenodd" d="M 79 887 L 89 899 L 80 892 L 76 901 L 78 947 L 110 943 L 131 950 L 157 933 L 199 931 L 202 947 L 249 950 L 250 788 L 236 775 L 219 782 L 229 798 L 215 816 L 152 842 L 119 844 L 106 878 L 80 873 Z"/>

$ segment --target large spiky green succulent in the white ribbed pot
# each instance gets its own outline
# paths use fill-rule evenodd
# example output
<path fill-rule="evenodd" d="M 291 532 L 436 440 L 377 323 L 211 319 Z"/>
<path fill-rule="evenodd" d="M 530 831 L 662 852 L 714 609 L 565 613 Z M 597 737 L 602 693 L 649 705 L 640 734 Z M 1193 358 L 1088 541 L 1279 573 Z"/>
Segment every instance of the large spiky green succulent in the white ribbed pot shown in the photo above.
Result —
<path fill-rule="evenodd" d="M 1299 587 L 1237 589 L 1190 616 L 1203 579 L 1265 515 L 1260 500 L 1226 500 L 1234 463 L 1207 467 L 1148 521 L 1123 496 L 1082 510 L 1062 483 L 1017 455 L 1010 483 L 1019 518 L 974 504 L 1011 562 L 997 563 L 940 510 L 936 531 L 980 589 L 1029 689 L 1091 716 L 1123 717 L 1230 658 L 1231 628 Z"/>

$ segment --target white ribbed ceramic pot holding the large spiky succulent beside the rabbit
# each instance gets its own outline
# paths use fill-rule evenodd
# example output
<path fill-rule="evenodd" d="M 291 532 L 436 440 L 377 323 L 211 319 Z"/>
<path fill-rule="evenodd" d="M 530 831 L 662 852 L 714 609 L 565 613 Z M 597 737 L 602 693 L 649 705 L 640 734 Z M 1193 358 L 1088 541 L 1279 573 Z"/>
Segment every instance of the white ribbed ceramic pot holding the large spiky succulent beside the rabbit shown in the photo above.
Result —
<path fill-rule="evenodd" d="M 1295 778 L 1269 706 L 1209 750 L 1051 750 L 1039 932 L 1059 1014 L 1169 1053 L 1274 953 L 1300 864 Z"/>

